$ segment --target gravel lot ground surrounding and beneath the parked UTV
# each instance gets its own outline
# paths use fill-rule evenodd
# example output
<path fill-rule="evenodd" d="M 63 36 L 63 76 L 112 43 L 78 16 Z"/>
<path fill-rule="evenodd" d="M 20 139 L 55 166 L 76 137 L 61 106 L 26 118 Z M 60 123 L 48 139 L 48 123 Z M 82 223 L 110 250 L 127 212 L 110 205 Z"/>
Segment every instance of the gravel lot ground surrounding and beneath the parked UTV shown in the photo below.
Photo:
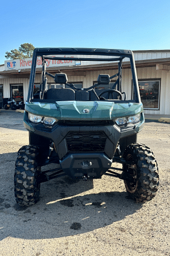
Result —
<path fill-rule="evenodd" d="M 147 120 L 138 135 L 159 166 L 159 191 L 151 201 L 130 200 L 114 177 L 75 182 L 66 176 L 42 183 L 39 203 L 23 208 L 15 203 L 14 168 L 28 132 L 23 113 L 1 110 L 0 256 L 170 255 L 169 128 Z"/>

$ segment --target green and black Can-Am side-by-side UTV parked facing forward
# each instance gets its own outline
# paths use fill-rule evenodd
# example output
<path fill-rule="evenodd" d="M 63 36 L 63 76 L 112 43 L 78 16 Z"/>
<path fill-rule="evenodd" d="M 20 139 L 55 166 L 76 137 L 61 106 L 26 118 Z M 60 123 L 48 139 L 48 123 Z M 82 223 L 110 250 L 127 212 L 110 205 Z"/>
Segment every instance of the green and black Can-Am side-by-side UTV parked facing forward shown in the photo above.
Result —
<path fill-rule="evenodd" d="M 39 68 L 36 73 L 40 58 L 42 70 Z M 67 81 L 65 73 L 60 71 L 54 75 L 46 71 L 46 63 L 50 61 L 82 61 L 82 65 L 75 65 L 73 71 L 81 70 L 83 65 L 92 70 L 97 61 L 100 69 L 113 72 L 113 75 L 99 74 L 96 84 L 84 82 L 84 88 L 78 88 Z M 91 66 L 87 66 L 90 61 Z M 124 63 L 125 67 L 127 64 L 131 67 L 127 80 L 122 77 Z M 40 91 L 34 96 L 35 76 L 37 82 L 40 72 Z M 131 91 L 130 77 L 132 93 L 128 92 Z M 52 81 L 50 84 L 47 78 Z M 151 200 L 158 191 L 159 175 L 150 148 L 137 143 L 137 133 L 144 122 L 133 52 L 36 48 L 24 113 L 29 145 L 20 148 L 16 159 L 16 202 L 25 206 L 37 203 L 40 184 L 64 175 L 83 180 L 99 179 L 102 175 L 118 177 L 124 180 L 126 191 L 133 199 L 138 202 Z M 114 162 L 121 163 L 122 168 L 114 168 Z M 42 166 L 50 163 L 59 164 L 59 168 L 41 171 Z"/>

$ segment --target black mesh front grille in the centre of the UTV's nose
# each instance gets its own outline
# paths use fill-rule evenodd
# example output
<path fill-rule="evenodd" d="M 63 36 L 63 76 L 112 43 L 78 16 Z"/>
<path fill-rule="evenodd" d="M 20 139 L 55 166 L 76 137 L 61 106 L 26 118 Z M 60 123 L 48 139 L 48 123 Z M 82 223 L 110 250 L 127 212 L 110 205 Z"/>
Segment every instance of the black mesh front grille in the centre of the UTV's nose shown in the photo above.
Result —
<path fill-rule="evenodd" d="M 70 131 L 66 137 L 68 152 L 104 152 L 106 139 L 102 131 Z"/>

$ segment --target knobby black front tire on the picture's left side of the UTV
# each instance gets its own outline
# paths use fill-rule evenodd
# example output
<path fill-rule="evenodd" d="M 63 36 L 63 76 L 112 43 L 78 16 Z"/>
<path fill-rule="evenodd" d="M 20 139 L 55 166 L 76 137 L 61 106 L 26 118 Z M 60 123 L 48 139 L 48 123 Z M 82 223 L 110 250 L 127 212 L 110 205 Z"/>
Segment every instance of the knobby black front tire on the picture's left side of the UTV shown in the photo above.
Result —
<path fill-rule="evenodd" d="M 19 205 L 36 204 L 40 197 L 40 182 L 38 180 L 40 167 L 37 166 L 38 147 L 23 146 L 18 151 L 15 163 L 14 191 Z"/>

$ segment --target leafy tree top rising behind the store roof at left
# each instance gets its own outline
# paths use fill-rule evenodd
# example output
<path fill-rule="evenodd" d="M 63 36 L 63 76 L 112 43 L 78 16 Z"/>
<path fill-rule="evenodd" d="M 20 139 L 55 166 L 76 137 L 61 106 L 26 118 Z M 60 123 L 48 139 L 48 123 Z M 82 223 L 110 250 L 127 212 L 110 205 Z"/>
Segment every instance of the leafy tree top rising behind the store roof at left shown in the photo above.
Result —
<path fill-rule="evenodd" d="M 6 52 L 6 59 L 23 59 L 23 58 L 30 58 L 33 55 L 34 46 L 29 43 L 21 44 L 18 49 L 12 49 L 10 52 Z"/>

